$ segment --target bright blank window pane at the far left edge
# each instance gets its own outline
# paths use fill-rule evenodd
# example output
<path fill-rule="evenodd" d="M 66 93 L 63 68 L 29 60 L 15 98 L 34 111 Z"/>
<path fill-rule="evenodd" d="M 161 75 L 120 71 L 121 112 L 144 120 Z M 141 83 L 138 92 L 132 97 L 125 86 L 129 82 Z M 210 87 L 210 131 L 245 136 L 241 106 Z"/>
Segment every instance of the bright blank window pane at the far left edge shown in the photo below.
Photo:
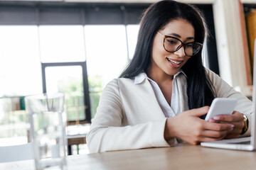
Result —
<path fill-rule="evenodd" d="M 37 26 L 0 26 L 0 37 L 0 96 L 42 93 Z"/>

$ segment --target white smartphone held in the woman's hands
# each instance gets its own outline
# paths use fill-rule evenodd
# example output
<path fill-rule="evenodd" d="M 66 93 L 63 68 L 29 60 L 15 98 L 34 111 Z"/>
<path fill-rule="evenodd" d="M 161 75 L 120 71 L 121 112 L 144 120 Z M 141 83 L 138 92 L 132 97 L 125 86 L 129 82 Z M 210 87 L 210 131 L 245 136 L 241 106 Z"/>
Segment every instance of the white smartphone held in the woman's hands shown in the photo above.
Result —
<path fill-rule="evenodd" d="M 208 121 L 215 115 L 231 115 L 237 102 L 236 98 L 214 98 L 205 120 Z"/>

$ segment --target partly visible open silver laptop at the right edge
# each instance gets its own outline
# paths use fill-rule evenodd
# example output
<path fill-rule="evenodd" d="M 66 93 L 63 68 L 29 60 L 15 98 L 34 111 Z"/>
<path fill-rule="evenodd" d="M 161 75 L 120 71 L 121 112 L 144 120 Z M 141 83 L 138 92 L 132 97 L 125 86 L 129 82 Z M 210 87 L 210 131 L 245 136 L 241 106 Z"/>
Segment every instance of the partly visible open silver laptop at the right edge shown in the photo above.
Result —
<path fill-rule="evenodd" d="M 230 140 L 218 140 L 214 142 L 201 142 L 203 147 L 215 147 L 222 149 L 238 149 L 252 151 L 256 149 L 256 39 L 254 44 L 254 63 L 253 63 L 253 84 L 252 84 L 252 120 L 250 122 L 251 126 L 251 136 L 250 137 L 239 137 Z"/>

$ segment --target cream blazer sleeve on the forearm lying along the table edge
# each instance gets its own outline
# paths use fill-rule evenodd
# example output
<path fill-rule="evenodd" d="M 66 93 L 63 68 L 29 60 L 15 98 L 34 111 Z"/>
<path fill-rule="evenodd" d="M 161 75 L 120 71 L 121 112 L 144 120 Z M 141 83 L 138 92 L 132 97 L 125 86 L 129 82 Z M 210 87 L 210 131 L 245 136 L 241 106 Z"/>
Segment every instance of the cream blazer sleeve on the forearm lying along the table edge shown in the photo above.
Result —
<path fill-rule="evenodd" d="M 114 79 L 102 92 L 97 113 L 86 137 L 90 153 L 170 146 L 164 140 L 166 118 L 123 126 L 123 116 L 118 81 Z"/>

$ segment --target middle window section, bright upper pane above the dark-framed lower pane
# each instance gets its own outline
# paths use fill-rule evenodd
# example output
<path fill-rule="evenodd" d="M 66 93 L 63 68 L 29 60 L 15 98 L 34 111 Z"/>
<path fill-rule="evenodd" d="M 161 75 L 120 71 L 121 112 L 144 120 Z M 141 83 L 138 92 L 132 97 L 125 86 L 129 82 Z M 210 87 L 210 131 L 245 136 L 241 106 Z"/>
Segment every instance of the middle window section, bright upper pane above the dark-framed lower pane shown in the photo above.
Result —
<path fill-rule="evenodd" d="M 43 91 L 65 94 L 68 121 L 90 122 L 83 26 L 39 26 L 39 37 Z"/>

